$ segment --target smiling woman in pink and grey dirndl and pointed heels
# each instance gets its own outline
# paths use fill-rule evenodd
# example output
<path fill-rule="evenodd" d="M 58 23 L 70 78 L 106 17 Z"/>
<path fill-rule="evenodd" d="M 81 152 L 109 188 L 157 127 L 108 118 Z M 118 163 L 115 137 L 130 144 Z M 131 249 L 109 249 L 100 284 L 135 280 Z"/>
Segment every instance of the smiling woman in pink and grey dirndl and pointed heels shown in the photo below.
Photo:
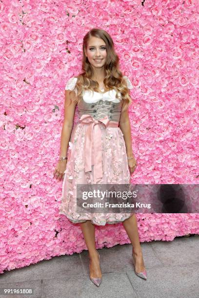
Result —
<path fill-rule="evenodd" d="M 95 247 L 96 224 L 122 222 L 133 246 L 135 273 L 146 279 L 135 214 L 77 213 L 77 184 L 129 184 L 136 168 L 127 109 L 132 85 L 119 70 L 119 57 L 106 31 L 94 28 L 83 38 L 82 70 L 65 87 L 60 160 L 54 171 L 56 179 L 63 179 L 60 214 L 80 223 L 89 251 L 90 279 L 97 286 L 102 274 Z M 73 129 L 77 104 L 80 120 Z M 72 145 L 69 154 L 68 145 Z"/>

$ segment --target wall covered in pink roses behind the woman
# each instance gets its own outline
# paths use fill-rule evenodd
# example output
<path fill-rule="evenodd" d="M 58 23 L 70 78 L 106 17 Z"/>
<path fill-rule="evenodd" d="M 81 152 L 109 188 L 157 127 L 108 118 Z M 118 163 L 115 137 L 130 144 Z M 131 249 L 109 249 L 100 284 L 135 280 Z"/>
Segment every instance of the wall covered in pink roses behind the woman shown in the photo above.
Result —
<path fill-rule="evenodd" d="M 93 27 L 112 36 L 134 86 L 132 183 L 198 183 L 199 1 L 1 0 L 0 16 L 0 273 L 87 249 L 80 225 L 59 216 L 53 171 L 64 87 Z M 199 214 L 137 218 L 140 242 L 199 234 Z M 96 226 L 96 242 L 130 243 L 122 223 Z"/>

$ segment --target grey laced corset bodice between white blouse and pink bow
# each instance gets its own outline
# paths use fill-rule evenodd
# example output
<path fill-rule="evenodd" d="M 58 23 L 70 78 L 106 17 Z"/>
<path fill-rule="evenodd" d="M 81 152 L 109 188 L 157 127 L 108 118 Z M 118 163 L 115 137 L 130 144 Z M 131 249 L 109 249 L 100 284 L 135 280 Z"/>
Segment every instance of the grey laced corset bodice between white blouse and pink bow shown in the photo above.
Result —
<path fill-rule="evenodd" d="M 94 103 L 87 103 L 81 99 L 78 105 L 78 114 L 80 117 L 84 114 L 89 114 L 96 120 L 108 116 L 110 121 L 119 122 L 121 107 L 121 101 L 113 102 L 100 99 Z"/>

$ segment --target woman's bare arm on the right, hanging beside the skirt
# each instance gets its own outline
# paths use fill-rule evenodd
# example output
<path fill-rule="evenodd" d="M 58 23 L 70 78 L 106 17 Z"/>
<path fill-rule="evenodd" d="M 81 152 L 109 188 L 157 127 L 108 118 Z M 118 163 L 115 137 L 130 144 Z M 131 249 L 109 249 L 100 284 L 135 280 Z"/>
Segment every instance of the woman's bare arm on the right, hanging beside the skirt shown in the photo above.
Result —
<path fill-rule="evenodd" d="M 128 159 L 128 165 L 130 168 L 130 172 L 134 172 L 136 167 L 136 159 L 133 154 L 132 143 L 131 143 L 131 126 L 129 121 L 128 109 L 121 112 L 120 120 L 119 120 L 119 128 L 124 135 L 124 141 L 126 145 L 126 153 L 127 157 L 133 157 L 132 159 Z"/>

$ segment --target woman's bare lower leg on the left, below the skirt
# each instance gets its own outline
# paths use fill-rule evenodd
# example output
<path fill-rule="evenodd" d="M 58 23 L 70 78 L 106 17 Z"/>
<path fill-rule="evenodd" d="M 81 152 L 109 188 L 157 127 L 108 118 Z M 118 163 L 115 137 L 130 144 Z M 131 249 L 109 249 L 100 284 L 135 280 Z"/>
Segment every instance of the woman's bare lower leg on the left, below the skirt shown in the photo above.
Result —
<path fill-rule="evenodd" d="M 86 221 L 85 223 L 80 223 L 80 226 L 89 251 L 90 276 L 91 278 L 101 278 L 100 260 L 95 246 L 95 224 L 91 223 L 91 221 Z"/>

